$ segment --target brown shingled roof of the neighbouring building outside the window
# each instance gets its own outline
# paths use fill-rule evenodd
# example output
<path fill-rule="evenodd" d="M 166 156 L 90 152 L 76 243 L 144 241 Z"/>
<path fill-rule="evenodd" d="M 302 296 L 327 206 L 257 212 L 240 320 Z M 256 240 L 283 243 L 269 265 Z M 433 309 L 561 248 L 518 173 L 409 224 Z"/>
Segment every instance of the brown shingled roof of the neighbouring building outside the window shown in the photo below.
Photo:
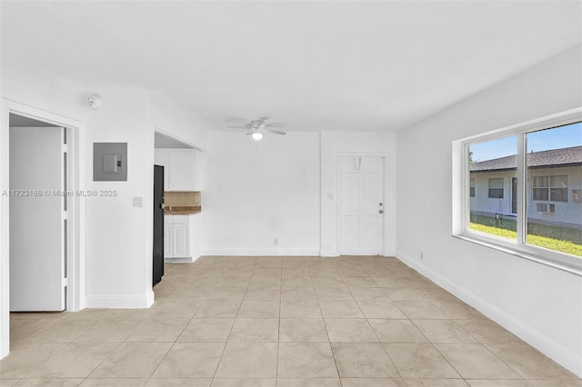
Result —
<path fill-rule="evenodd" d="M 552 149 L 527 154 L 529 168 L 582 165 L 582 146 Z M 517 169 L 517 154 L 471 164 L 470 172 L 507 171 Z"/>

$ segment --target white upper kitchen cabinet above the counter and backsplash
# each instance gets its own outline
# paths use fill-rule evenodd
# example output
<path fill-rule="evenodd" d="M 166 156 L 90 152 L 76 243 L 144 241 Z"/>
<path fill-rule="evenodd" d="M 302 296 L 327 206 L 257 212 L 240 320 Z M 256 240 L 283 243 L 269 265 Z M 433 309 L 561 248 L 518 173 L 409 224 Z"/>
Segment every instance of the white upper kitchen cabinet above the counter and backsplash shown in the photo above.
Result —
<path fill-rule="evenodd" d="M 157 165 L 164 165 L 164 191 L 196 190 L 196 155 L 194 150 L 156 149 Z"/>

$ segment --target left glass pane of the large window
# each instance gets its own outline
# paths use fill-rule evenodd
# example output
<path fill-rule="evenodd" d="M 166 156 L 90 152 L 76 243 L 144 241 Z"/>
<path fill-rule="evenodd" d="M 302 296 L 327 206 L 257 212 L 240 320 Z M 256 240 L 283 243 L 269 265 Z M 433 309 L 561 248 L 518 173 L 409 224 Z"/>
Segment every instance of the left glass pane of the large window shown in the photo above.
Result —
<path fill-rule="evenodd" d="M 517 136 L 470 144 L 468 154 L 467 228 L 517 240 Z"/>

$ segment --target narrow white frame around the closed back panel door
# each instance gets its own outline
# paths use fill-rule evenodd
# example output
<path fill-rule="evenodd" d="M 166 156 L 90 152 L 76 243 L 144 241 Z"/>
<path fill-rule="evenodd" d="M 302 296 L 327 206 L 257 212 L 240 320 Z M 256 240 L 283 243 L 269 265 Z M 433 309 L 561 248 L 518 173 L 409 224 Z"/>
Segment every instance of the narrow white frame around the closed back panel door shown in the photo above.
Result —
<path fill-rule="evenodd" d="M 388 230 L 388 215 L 392 215 L 388 213 L 388 205 L 386 203 L 387 197 L 387 185 L 388 184 L 388 174 L 387 174 L 387 155 L 386 154 L 377 154 L 377 153 L 366 153 L 366 152 L 338 152 L 337 159 L 336 159 L 336 167 L 337 167 L 337 186 L 336 186 L 336 252 L 337 255 L 341 255 L 341 234 L 342 234 L 342 219 L 341 219 L 341 187 L 342 187 L 342 171 L 341 171 L 341 159 L 342 157 L 380 157 L 382 158 L 382 169 L 383 169 L 383 185 L 382 185 L 382 203 L 384 207 L 384 217 L 382 222 L 382 256 L 387 256 L 387 230 Z"/>

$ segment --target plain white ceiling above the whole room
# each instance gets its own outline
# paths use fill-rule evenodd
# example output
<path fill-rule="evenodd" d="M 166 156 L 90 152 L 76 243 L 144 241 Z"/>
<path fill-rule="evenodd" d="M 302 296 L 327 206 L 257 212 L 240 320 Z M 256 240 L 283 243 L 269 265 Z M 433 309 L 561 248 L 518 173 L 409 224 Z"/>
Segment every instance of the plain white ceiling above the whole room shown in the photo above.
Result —
<path fill-rule="evenodd" d="M 213 130 L 398 131 L 580 44 L 581 5 L 2 1 L 2 66 L 156 90 Z"/>

